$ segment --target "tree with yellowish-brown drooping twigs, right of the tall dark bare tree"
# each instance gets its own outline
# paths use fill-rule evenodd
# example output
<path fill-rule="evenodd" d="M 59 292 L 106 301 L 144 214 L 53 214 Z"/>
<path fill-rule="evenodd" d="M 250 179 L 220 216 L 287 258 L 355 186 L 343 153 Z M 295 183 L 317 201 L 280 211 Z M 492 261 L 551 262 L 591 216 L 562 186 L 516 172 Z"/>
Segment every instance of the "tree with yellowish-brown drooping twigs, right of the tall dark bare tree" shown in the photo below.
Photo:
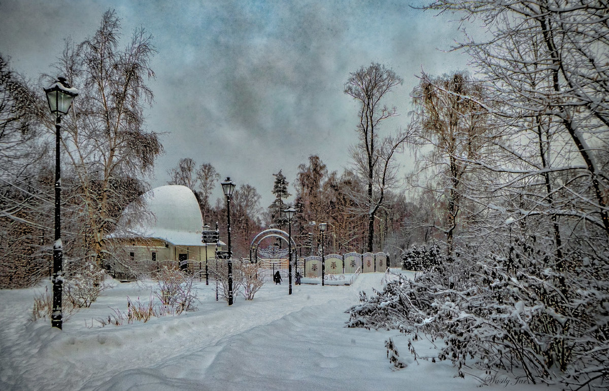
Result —
<path fill-rule="evenodd" d="M 466 175 L 473 167 L 469 162 L 479 157 L 486 131 L 487 113 L 481 104 L 484 91 L 479 82 L 466 74 L 456 72 L 450 76 L 431 78 L 426 74 L 412 91 L 415 106 L 410 143 L 415 151 L 421 146 L 432 146 L 429 153 L 417 158 L 419 171 L 411 176 L 417 180 L 421 172 L 432 171 L 438 178 L 429 185 L 417 184 L 431 189 L 444 213 L 434 222 L 434 228 L 446 235 L 448 255 L 452 255 L 454 236 L 465 220 Z M 471 211 L 470 211 L 471 213 Z"/>

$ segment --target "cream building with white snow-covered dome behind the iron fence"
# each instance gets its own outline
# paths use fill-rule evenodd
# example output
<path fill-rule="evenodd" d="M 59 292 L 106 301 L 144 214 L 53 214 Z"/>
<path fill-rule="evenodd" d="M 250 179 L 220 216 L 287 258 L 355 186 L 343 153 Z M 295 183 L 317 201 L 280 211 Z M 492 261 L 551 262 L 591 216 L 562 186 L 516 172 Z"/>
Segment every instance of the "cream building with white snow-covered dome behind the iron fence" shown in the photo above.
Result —
<path fill-rule="evenodd" d="M 166 260 L 177 264 L 192 260 L 198 269 L 198 262 L 205 262 L 205 252 L 207 258 L 214 258 L 216 244 L 201 242 L 203 217 L 191 189 L 180 185 L 160 186 L 141 197 L 147 213 L 142 217 L 143 213 L 133 213 L 135 207 L 127 206 L 119 220 L 120 228 L 108 236 L 124 248 L 131 264 Z M 131 217 L 132 214 L 139 217 Z"/>

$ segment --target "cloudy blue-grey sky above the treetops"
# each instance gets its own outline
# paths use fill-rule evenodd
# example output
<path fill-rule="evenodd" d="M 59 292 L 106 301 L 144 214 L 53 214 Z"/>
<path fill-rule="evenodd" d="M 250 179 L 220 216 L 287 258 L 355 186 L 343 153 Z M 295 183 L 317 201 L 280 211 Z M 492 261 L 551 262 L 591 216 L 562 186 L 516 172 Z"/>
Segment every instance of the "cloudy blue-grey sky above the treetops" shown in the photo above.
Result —
<path fill-rule="evenodd" d="M 415 10 L 399 0 L 0 0 L 0 52 L 32 82 L 51 72 L 63 40 L 94 34 L 102 14 L 116 9 L 125 38 L 136 27 L 154 37 L 158 54 L 150 82 L 155 104 L 147 127 L 163 132 L 166 153 L 153 186 L 182 157 L 211 163 L 239 185 L 250 183 L 272 201 L 273 173 L 290 184 L 298 164 L 317 154 L 330 171 L 350 164 L 357 107 L 343 93 L 349 73 L 383 63 L 404 85 L 387 96 L 409 119 L 409 93 L 421 69 L 467 69 L 465 54 L 446 52 L 462 35 L 455 16 Z M 41 86 L 42 87 L 42 86 Z M 400 157 L 406 174 L 412 157 Z M 294 191 L 291 191 L 294 193 Z M 217 191 L 216 196 L 220 192 Z"/>

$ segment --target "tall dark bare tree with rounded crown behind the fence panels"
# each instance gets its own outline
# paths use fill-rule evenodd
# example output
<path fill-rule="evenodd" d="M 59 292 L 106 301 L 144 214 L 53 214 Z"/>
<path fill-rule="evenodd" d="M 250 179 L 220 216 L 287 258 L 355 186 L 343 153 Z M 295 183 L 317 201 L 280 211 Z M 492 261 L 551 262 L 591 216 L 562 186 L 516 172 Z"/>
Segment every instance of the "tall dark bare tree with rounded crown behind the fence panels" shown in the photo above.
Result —
<path fill-rule="evenodd" d="M 368 216 L 369 252 L 373 250 L 376 211 L 382 205 L 385 190 L 394 184 L 395 167 L 392 157 L 407 138 L 403 131 L 379 138 L 378 127 L 381 122 L 396 115 L 396 108 L 381 105 L 381 100 L 402 82 L 401 77 L 392 69 L 372 63 L 350 73 L 345 83 L 345 94 L 353 97 L 359 105 L 359 143 L 351 148 L 351 157 L 357 173 L 367 184 L 367 196 L 359 204 Z"/>

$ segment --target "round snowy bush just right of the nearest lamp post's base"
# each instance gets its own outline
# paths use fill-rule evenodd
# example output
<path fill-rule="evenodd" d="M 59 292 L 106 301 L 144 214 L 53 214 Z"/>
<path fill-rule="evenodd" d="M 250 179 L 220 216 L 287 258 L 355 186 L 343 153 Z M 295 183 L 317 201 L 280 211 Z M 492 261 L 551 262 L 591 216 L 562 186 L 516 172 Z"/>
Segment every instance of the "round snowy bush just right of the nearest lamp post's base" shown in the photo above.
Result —
<path fill-rule="evenodd" d="M 85 262 L 80 269 L 71 271 L 63 286 L 63 297 L 72 306 L 90 307 L 100 292 L 108 287 L 104 282 L 105 270 L 94 262 Z"/>

